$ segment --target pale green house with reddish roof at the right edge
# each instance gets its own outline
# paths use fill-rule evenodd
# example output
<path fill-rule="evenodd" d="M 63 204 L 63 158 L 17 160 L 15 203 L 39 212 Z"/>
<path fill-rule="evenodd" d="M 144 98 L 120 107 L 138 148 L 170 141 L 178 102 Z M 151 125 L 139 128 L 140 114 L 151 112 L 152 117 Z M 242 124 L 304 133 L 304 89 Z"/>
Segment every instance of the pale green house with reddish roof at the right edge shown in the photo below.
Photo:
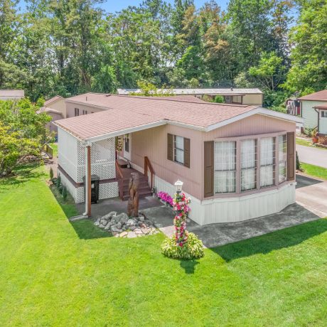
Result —
<path fill-rule="evenodd" d="M 317 128 L 319 134 L 327 134 L 326 106 L 327 90 L 311 93 L 298 99 L 301 104 L 301 117 L 304 127 Z"/>

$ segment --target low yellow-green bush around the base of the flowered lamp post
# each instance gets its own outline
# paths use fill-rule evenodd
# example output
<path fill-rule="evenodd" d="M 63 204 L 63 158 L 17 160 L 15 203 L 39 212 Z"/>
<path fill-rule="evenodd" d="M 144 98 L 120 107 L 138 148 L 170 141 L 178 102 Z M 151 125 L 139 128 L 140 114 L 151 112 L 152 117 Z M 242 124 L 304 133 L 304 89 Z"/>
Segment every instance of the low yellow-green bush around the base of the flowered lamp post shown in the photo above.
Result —
<path fill-rule="evenodd" d="M 173 235 L 172 237 L 166 237 L 161 245 L 161 252 L 173 259 L 198 259 L 204 255 L 203 242 L 193 232 L 189 232 L 187 242 L 183 247 L 180 247 L 176 245 Z"/>

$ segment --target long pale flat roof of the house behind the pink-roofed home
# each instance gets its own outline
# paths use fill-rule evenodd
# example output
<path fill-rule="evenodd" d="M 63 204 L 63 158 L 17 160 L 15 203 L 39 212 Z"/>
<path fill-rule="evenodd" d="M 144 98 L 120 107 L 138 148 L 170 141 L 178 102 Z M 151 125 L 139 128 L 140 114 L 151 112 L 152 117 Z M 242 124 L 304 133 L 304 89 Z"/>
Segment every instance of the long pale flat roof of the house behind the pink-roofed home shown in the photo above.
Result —
<path fill-rule="evenodd" d="M 167 89 L 175 95 L 262 95 L 262 91 L 259 89 L 235 89 L 235 88 L 224 88 L 224 89 Z M 141 92 L 140 89 L 118 89 L 119 95 L 128 95 L 129 92 Z M 160 92 L 160 89 L 159 89 Z"/>

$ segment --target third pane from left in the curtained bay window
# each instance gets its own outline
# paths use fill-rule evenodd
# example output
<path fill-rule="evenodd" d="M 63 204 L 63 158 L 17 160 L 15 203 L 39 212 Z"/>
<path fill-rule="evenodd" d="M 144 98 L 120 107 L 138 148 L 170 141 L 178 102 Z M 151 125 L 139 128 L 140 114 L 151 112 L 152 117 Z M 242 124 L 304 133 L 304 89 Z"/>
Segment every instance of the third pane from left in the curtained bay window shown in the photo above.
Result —
<path fill-rule="evenodd" d="M 275 138 L 260 139 L 260 187 L 274 185 Z"/>

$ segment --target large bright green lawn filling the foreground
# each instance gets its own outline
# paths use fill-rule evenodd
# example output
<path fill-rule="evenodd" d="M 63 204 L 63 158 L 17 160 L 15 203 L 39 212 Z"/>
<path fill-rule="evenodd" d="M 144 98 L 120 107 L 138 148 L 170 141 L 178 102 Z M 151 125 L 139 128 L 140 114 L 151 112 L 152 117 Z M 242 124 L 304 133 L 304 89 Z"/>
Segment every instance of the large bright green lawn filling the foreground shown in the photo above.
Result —
<path fill-rule="evenodd" d="M 1 326 L 326 326 L 326 219 L 182 262 L 69 223 L 42 171 L 0 181 Z"/>

